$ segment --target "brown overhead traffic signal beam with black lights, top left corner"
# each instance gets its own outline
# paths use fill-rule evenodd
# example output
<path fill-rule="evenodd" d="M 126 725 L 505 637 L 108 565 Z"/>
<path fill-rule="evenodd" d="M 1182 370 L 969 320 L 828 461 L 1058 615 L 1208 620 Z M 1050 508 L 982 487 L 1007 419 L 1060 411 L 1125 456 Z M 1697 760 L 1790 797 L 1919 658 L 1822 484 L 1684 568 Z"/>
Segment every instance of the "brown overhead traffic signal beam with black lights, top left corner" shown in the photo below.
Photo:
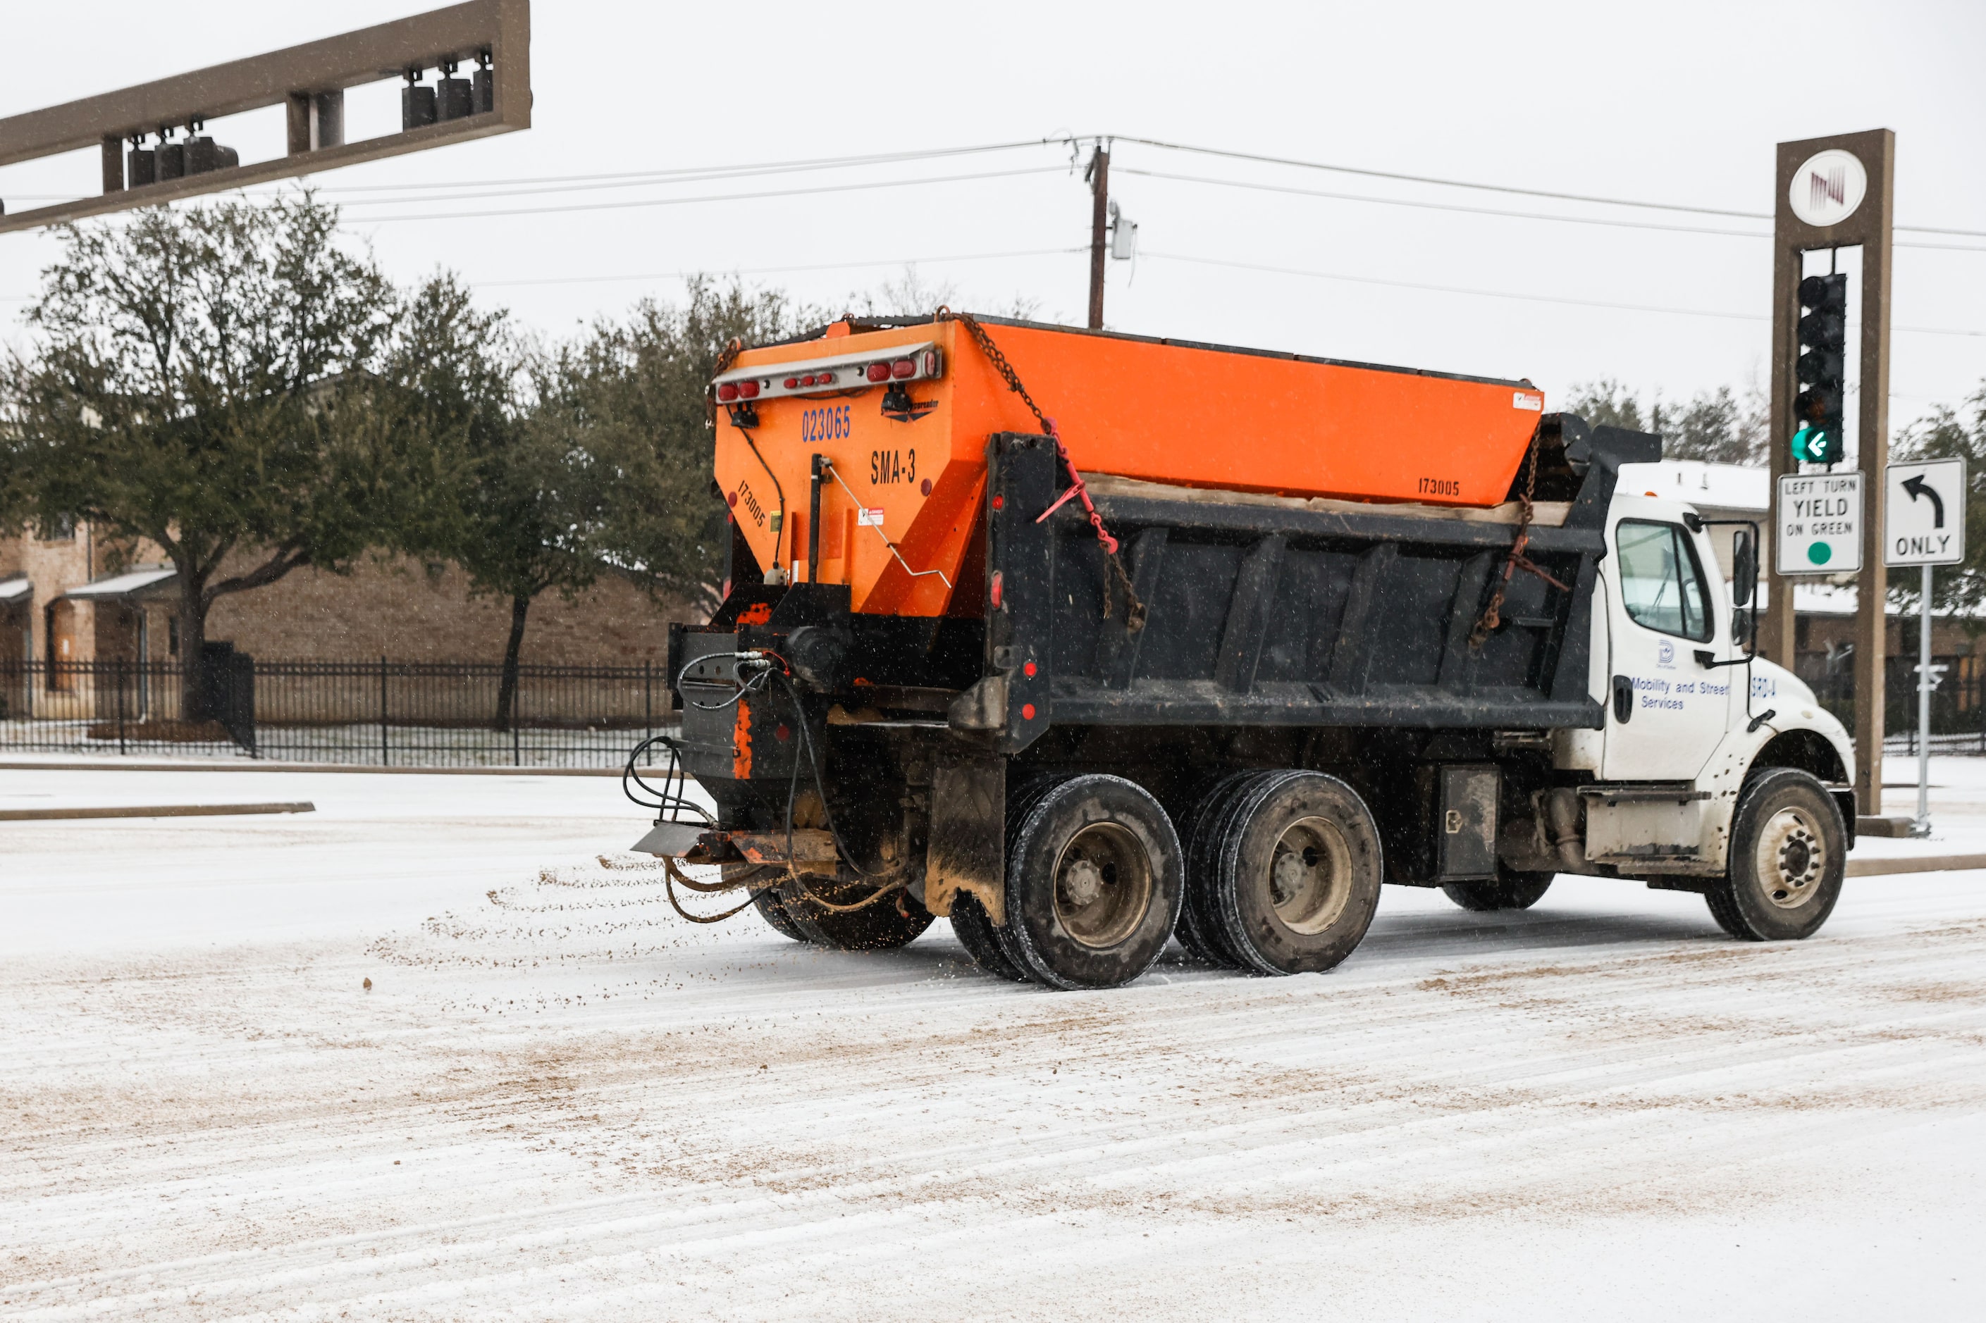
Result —
<path fill-rule="evenodd" d="M 457 70 L 473 66 L 469 77 Z M 423 83 L 427 72 L 439 75 Z M 346 141 L 346 89 L 405 79 L 399 133 Z M 209 119 L 284 105 L 286 155 L 242 161 Z M 471 0 L 0 119 L 0 165 L 101 149 L 103 191 L 8 213 L 0 232 L 530 127 L 530 0 Z M 185 137 L 179 137 L 185 133 Z"/>

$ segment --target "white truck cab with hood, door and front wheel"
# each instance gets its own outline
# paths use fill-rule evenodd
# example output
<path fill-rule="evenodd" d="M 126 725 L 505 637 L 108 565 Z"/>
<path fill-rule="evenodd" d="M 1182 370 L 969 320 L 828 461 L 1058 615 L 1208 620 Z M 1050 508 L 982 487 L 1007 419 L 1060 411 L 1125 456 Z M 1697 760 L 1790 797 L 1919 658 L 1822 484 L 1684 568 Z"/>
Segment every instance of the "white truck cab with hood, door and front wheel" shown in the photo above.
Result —
<path fill-rule="evenodd" d="M 1615 495 L 1591 650 L 1607 723 L 1555 735 L 1553 763 L 1577 787 L 1547 793 L 1545 840 L 1517 848 L 1549 844 L 1563 872 L 1700 890 L 1734 936 L 1787 938 L 1819 928 L 1839 892 L 1855 751 L 1805 683 L 1750 656 L 1756 538 L 1740 530 L 1728 584 L 1690 505 Z"/>

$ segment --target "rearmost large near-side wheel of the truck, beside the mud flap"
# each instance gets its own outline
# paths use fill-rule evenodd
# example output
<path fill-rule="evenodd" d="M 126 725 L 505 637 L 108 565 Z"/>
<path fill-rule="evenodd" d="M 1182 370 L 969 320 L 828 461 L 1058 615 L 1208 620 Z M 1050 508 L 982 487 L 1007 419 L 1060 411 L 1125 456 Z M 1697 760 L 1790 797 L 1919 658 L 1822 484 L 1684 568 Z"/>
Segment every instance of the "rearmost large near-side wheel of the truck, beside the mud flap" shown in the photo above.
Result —
<path fill-rule="evenodd" d="M 1070 777 L 1009 836 L 1003 950 L 1049 987 L 1118 987 L 1166 950 L 1182 890 L 1158 801 L 1122 777 Z"/>

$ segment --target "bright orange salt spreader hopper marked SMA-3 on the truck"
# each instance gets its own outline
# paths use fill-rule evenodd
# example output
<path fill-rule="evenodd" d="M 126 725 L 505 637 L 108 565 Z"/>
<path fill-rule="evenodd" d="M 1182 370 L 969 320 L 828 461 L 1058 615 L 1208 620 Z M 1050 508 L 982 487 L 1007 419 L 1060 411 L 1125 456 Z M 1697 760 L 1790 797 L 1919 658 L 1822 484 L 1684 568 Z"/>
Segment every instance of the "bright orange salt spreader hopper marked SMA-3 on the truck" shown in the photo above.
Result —
<path fill-rule="evenodd" d="M 1084 475 L 1491 507 L 1545 409 L 1529 381 L 979 318 Z M 717 483 L 761 566 L 856 612 L 943 616 L 985 447 L 1041 423 L 955 318 L 745 350 L 713 389 Z M 822 457 L 820 528 L 808 528 Z M 818 544 L 814 536 L 818 532 Z M 977 608 L 977 586 L 961 602 Z"/>

